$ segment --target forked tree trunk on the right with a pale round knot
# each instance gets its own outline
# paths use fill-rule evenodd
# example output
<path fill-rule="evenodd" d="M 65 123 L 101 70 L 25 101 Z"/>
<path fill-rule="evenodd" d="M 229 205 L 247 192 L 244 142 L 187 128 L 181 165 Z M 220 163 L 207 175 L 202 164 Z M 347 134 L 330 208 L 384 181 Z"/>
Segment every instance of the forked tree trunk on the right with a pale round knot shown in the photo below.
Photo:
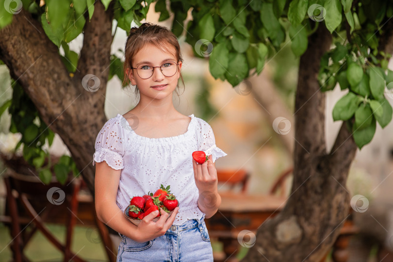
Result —
<path fill-rule="evenodd" d="M 344 123 L 330 153 L 325 143 L 325 94 L 317 75 L 331 34 L 320 24 L 300 58 L 295 98 L 294 180 L 284 209 L 257 231 L 243 261 L 320 261 L 349 211 L 345 181 L 356 145 Z"/>

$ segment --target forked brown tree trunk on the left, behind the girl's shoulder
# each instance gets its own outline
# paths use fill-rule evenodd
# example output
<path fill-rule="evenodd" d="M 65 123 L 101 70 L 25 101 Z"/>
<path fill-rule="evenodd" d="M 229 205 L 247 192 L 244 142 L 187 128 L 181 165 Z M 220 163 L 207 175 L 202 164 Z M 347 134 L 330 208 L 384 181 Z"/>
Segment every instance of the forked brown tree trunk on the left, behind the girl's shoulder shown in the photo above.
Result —
<path fill-rule="evenodd" d="M 112 19 L 112 5 L 105 11 L 97 1 L 90 22 L 86 17 L 83 48 L 73 77 L 62 63 L 59 49 L 29 12 L 22 9 L 0 31 L 0 59 L 32 99 L 44 122 L 63 139 L 93 196 L 94 143 L 107 120 L 104 102 L 113 40 Z M 97 92 L 82 87 L 86 74 L 99 78 Z"/>

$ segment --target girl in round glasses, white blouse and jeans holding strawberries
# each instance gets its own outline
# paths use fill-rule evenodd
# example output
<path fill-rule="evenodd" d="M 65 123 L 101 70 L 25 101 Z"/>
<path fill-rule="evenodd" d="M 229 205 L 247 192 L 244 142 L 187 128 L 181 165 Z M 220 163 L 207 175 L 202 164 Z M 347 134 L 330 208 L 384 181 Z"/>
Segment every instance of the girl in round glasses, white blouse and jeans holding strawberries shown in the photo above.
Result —
<path fill-rule="evenodd" d="M 176 36 L 167 28 L 144 23 L 131 28 L 124 73 L 140 99 L 131 111 L 108 120 L 96 139 L 95 204 L 98 218 L 119 232 L 117 261 L 213 261 L 204 218 L 221 204 L 215 160 L 226 156 L 216 147 L 213 130 L 194 115 L 173 106 L 172 93 L 182 58 Z M 192 152 L 209 155 L 197 164 Z M 162 209 L 138 226 L 124 215 L 130 198 L 170 185 L 179 207 Z M 168 218 L 169 217 L 169 218 Z"/>

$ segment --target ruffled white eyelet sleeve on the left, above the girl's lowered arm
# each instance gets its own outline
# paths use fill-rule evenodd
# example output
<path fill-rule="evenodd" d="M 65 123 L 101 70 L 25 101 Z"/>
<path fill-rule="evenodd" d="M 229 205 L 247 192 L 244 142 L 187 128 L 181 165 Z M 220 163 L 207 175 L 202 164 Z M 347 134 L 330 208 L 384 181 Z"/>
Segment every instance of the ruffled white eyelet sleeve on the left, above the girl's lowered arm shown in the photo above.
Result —
<path fill-rule="evenodd" d="M 115 170 L 124 167 L 123 156 L 125 153 L 126 139 L 124 129 L 117 117 L 109 119 L 98 132 L 93 155 L 93 165 L 105 161 Z"/>

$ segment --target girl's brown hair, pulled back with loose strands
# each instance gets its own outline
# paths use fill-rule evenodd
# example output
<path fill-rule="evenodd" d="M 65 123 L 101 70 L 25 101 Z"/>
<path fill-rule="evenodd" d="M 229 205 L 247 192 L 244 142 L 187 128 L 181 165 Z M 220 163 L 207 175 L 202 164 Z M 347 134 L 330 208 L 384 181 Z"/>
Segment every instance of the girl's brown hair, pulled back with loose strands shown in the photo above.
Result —
<path fill-rule="evenodd" d="M 123 86 L 129 84 L 130 79 L 127 75 L 127 69 L 132 67 L 133 58 L 136 53 L 146 45 L 154 45 L 164 52 L 170 53 L 169 47 L 174 47 L 176 53 L 174 54 L 177 62 L 183 62 L 183 58 L 180 53 L 180 45 L 178 38 L 169 29 L 164 26 L 155 25 L 152 23 L 143 23 L 139 28 L 133 27 L 130 30 L 130 34 L 127 37 L 126 47 L 124 51 L 125 61 L 123 66 L 124 80 Z M 184 87 L 183 77 L 180 72 L 180 79 Z M 179 85 L 177 86 L 179 88 Z M 176 93 L 179 96 L 178 90 Z M 135 88 L 135 95 L 138 96 L 139 89 Z"/>

